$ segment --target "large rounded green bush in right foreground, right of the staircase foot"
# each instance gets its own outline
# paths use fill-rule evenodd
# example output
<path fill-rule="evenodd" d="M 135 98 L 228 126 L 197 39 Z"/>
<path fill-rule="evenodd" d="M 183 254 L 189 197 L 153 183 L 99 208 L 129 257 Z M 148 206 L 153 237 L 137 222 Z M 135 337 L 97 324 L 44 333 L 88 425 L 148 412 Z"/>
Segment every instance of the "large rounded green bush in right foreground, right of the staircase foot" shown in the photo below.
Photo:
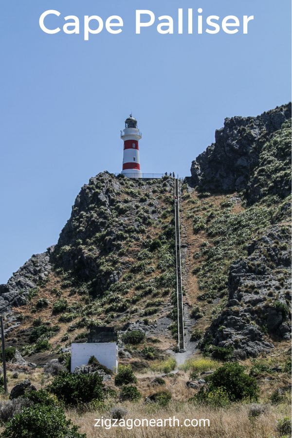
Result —
<path fill-rule="evenodd" d="M 254 377 L 245 374 L 245 368 L 237 363 L 220 366 L 208 377 L 208 392 L 222 389 L 231 402 L 257 401 L 259 388 Z"/>

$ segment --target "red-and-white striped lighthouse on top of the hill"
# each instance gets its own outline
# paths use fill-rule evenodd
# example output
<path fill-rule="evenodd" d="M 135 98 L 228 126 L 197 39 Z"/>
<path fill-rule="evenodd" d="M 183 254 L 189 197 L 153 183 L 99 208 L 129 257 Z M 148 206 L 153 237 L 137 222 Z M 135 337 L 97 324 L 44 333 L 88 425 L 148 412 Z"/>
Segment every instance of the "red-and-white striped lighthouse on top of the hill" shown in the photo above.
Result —
<path fill-rule="evenodd" d="M 137 128 L 137 120 L 132 114 L 125 120 L 125 129 L 121 131 L 124 141 L 124 156 L 122 174 L 128 178 L 142 178 L 139 158 L 139 140 L 142 133 Z"/>

